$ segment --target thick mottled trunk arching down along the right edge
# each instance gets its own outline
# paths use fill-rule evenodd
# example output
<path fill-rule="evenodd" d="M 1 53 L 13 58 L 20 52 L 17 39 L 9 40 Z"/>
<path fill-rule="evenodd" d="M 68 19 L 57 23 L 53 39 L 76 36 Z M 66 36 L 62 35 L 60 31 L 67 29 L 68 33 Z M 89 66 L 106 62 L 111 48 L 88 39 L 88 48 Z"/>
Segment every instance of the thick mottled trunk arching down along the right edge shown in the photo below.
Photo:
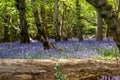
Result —
<path fill-rule="evenodd" d="M 101 17 L 105 20 L 108 29 L 112 32 L 112 37 L 120 53 L 120 19 L 116 12 L 112 10 L 112 6 L 108 4 L 107 0 L 86 0 L 93 5 Z"/>

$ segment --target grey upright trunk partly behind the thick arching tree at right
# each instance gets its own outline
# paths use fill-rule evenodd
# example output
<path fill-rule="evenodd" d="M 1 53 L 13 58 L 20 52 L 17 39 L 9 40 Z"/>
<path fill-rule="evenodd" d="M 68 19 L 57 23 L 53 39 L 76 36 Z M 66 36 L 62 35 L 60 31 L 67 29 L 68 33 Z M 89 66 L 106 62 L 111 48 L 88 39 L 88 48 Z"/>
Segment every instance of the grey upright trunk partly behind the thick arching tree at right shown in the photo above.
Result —
<path fill-rule="evenodd" d="M 97 41 L 102 41 L 103 40 L 103 36 L 102 36 L 102 27 L 103 27 L 103 23 L 102 23 L 102 17 L 100 16 L 99 12 L 97 12 L 97 29 L 96 29 L 96 40 Z"/>

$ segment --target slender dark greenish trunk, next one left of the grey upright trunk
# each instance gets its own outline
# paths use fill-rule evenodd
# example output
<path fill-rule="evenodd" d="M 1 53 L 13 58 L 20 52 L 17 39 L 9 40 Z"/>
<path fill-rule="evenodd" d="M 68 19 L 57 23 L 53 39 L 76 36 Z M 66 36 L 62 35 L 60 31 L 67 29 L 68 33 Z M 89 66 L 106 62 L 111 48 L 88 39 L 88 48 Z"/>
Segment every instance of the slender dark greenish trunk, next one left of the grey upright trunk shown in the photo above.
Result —
<path fill-rule="evenodd" d="M 77 15 L 77 22 L 76 22 L 76 27 L 78 30 L 79 34 L 79 40 L 83 40 L 83 34 L 82 34 L 82 26 L 81 26 L 81 19 L 80 19 L 80 3 L 79 0 L 76 0 L 76 15 Z"/>

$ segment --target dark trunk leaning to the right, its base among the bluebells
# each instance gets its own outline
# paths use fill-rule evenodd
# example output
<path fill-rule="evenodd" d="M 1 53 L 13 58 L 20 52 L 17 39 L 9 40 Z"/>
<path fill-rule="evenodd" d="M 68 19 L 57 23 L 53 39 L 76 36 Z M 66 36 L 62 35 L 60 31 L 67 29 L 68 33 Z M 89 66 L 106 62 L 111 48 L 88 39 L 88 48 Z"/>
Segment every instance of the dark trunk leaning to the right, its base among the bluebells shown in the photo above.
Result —
<path fill-rule="evenodd" d="M 36 0 L 32 0 L 31 1 L 32 4 L 34 4 L 35 1 Z M 42 42 L 44 49 L 55 48 L 50 42 L 47 41 L 45 31 L 40 23 L 39 12 L 38 12 L 38 9 L 35 7 L 35 5 L 33 5 L 33 14 L 34 14 L 35 24 L 38 32 L 38 35 L 37 35 L 38 40 Z"/>

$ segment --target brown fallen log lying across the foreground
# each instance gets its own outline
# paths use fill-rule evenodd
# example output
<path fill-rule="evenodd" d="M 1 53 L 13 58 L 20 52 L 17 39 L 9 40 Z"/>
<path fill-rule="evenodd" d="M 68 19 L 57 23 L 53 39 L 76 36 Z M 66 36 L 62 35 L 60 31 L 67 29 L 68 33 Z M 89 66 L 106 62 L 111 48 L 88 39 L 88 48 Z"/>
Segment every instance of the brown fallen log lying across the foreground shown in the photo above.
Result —
<path fill-rule="evenodd" d="M 0 59 L 0 80 L 55 80 L 55 66 L 67 80 L 97 80 L 120 74 L 120 60 Z"/>

